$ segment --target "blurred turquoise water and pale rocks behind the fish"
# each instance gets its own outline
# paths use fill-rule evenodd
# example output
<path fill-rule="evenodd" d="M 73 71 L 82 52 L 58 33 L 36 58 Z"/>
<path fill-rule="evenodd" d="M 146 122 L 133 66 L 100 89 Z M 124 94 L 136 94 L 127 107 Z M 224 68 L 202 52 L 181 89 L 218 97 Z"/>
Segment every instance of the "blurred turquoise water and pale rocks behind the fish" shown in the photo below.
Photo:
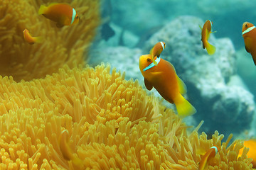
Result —
<path fill-rule="evenodd" d="M 254 23 L 255 16 L 249 1 L 105 0 L 105 25 L 92 45 L 89 64 L 110 62 L 126 73 L 125 79 L 139 79 L 144 86 L 139 56 L 164 41 L 161 57 L 174 64 L 188 88 L 188 101 L 198 111 L 185 118 L 186 123 L 204 120 L 200 130 L 208 135 L 218 130 L 226 137 L 233 133 L 235 138 L 250 139 L 256 129 L 256 67 L 245 50 L 242 23 Z M 199 26 L 206 20 L 216 31 L 209 39 L 217 49 L 213 56 L 202 48 Z"/>

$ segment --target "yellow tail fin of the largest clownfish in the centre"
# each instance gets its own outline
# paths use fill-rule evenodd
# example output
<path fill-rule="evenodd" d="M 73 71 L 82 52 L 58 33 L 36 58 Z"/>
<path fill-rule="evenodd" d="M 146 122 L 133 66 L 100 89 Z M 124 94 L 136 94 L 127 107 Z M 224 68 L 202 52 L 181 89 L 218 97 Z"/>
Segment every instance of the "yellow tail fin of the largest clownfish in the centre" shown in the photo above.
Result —
<path fill-rule="evenodd" d="M 178 98 L 174 100 L 174 103 L 176 105 L 178 115 L 181 117 L 186 117 L 196 113 L 196 108 L 194 108 L 191 103 L 186 100 L 186 98 L 183 98 L 181 94 L 179 94 Z"/>

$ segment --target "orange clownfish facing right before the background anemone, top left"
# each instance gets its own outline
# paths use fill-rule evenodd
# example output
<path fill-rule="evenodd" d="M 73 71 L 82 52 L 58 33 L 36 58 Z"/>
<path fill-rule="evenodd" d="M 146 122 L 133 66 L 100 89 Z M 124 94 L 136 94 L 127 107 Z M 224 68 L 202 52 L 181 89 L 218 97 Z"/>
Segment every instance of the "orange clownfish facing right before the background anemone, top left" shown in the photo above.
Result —
<path fill-rule="evenodd" d="M 38 14 L 42 14 L 51 21 L 55 21 L 58 28 L 72 26 L 79 21 L 75 9 L 68 4 L 53 3 L 49 6 L 41 5 Z"/>

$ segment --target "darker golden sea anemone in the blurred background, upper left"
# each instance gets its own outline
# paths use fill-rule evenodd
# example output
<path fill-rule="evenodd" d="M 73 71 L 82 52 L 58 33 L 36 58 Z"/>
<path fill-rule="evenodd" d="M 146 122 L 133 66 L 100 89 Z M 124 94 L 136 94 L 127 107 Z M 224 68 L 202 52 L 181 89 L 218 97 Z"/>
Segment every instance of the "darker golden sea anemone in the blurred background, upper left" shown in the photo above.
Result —
<path fill-rule="evenodd" d="M 68 64 L 76 67 L 84 63 L 95 29 L 100 24 L 100 1 L 65 0 L 73 6 L 80 22 L 75 26 L 57 28 L 53 21 L 38 15 L 41 0 L 0 1 L 0 74 L 20 81 L 46 77 Z M 23 30 L 41 36 L 42 43 L 29 45 Z"/>

